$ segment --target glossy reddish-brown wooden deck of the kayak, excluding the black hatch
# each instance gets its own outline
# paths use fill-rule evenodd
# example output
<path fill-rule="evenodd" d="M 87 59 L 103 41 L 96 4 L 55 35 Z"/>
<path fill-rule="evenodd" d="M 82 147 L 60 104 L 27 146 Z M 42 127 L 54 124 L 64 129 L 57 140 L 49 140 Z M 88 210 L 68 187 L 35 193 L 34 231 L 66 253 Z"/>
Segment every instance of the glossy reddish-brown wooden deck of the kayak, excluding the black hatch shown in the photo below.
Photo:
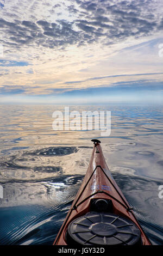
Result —
<path fill-rule="evenodd" d="M 53 245 L 68 245 L 66 234 L 68 225 L 73 220 L 85 216 L 91 211 L 92 200 L 105 199 L 112 203 L 112 214 L 132 221 L 140 230 L 141 245 L 151 245 L 139 222 L 130 208 L 126 198 L 109 171 L 105 162 L 100 142 L 95 140 L 91 160 L 82 185 L 73 200 L 70 211 L 62 224 Z M 87 245 L 87 243 L 85 243 Z M 93 245 L 93 244 L 92 244 Z"/>

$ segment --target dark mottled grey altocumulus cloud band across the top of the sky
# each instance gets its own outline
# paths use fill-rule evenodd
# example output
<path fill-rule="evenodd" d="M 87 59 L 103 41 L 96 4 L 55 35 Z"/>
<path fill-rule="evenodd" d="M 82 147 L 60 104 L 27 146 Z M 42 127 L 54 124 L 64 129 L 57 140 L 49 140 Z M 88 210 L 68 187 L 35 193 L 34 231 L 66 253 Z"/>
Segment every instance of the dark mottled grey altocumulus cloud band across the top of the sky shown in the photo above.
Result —
<path fill-rule="evenodd" d="M 162 3 L 159 0 L 43 3 L 49 14 L 55 14 L 53 22 L 43 16 L 40 19 L 37 13 L 37 8 L 42 5 L 40 1 L 30 5 L 28 10 L 31 15 L 28 19 L 24 19 L 18 11 L 11 14 L 14 3 L 19 5 L 18 10 L 23 10 L 27 8 L 27 2 L 15 0 L 9 10 L 3 8 L 3 18 L 0 19 L 1 43 L 10 51 L 27 45 L 49 48 L 94 42 L 110 45 L 131 36 L 140 38 L 162 29 L 162 15 L 159 13 Z M 61 19 L 64 12 L 68 15 Z"/>

